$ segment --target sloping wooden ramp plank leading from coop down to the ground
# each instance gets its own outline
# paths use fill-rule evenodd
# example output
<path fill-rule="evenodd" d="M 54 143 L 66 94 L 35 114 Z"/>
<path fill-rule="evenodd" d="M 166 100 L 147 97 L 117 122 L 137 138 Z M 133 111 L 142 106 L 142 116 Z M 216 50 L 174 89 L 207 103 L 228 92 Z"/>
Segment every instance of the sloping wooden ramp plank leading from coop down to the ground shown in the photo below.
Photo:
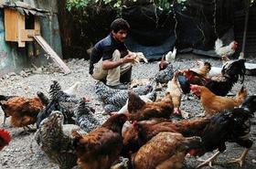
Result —
<path fill-rule="evenodd" d="M 58 64 L 59 68 L 64 71 L 65 74 L 69 74 L 71 70 L 69 67 L 63 62 L 61 58 L 59 58 L 58 54 L 48 45 L 47 41 L 41 36 L 33 36 L 37 43 L 48 53 L 49 57 Z"/>

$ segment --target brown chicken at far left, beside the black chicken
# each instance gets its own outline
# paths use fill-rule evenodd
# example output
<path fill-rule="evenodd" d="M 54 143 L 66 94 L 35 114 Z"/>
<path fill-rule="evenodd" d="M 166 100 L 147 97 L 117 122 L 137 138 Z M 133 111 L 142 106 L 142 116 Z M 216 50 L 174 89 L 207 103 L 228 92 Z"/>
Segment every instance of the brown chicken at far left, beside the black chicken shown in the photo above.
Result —
<path fill-rule="evenodd" d="M 39 95 L 38 95 L 39 96 Z M 29 124 L 37 121 L 37 114 L 43 110 L 44 103 L 40 98 L 14 97 L 2 103 L 2 109 L 11 116 L 11 125 L 23 127 L 27 132 Z"/>

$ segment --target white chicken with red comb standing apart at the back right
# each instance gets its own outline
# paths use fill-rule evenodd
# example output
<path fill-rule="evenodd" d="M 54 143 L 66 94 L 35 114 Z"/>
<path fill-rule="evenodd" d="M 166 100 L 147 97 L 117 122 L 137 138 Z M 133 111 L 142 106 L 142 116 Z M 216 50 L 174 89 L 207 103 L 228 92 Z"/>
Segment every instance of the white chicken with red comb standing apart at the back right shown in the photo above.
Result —
<path fill-rule="evenodd" d="M 219 55 L 220 57 L 222 56 L 232 56 L 236 49 L 238 48 L 238 42 L 236 42 L 235 40 L 229 43 L 229 46 L 224 46 L 223 47 L 223 42 L 221 39 L 217 39 L 215 41 L 215 52 L 217 55 Z"/>

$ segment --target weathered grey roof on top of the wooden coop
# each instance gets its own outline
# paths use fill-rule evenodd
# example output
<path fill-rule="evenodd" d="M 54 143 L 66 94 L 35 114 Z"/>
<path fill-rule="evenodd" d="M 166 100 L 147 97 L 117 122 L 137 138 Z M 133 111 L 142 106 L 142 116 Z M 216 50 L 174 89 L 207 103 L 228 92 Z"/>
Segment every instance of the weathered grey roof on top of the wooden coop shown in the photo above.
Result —
<path fill-rule="evenodd" d="M 33 15 L 33 16 L 46 16 L 49 14 L 48 10 L 45 9 L 39 9 L 36 7 L 33 7 L 31 5 L 28 5 L 27 3 L 24 2 L 16 2 L 16 3 L 4 3 L 1 5 L 4 8 L 12 8 L 18 11 L 21 15 Z"/>

